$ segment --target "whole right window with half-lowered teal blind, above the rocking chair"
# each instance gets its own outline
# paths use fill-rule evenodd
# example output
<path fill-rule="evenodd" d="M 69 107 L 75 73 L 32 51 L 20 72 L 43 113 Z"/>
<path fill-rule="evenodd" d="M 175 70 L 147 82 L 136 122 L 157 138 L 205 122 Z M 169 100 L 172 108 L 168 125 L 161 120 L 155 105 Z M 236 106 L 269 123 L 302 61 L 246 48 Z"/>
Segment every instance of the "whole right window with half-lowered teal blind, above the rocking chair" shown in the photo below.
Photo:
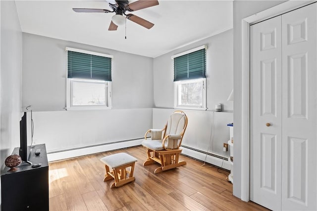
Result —
<path fill-rule="evenodd" d="M 206 109 L 206 48 L 204 45 L 172 56 L 174 107 Z"/>

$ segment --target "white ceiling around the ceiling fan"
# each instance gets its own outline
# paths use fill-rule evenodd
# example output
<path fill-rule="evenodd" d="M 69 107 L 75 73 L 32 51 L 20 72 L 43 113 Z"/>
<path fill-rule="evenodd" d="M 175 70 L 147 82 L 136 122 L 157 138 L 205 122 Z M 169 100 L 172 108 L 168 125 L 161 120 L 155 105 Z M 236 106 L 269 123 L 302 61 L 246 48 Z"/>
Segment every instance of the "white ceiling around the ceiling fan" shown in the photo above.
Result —
<path fill-rule="evenodd" d="M 133 2 L 135 0 L 131 0 Z M 159 0 L 132 12 L 152 23 L 146 29 L 127 20 L 108 31 L 114 13 L 77 13 L 72 8 L 109 9 L 106 0 L 16 0 L 22 32 L 157 57 L 232 28 L 230 0 Z"/>

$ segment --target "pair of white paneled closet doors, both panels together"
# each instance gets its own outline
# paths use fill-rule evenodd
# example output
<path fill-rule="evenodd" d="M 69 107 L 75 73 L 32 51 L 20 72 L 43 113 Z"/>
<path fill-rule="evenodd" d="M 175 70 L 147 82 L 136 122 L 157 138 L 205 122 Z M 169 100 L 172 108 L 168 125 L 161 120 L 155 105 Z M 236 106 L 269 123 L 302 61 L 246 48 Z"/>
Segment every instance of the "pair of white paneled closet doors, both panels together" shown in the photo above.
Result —
<path fill-rule="evenodd" d="M 251 200 L 316 211 L 317 3 L 251 26 L 250 37 Z"/>

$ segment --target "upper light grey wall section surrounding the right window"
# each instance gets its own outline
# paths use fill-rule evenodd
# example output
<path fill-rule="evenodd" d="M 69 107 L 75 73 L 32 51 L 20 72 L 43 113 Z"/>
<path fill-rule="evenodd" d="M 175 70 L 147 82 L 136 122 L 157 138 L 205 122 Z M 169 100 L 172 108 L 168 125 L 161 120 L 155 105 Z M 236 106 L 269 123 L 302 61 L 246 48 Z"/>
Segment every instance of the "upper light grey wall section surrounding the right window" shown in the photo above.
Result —
<path fill-rule="evenodd" d="M 173 50 L 154 59 L 154 105 L 172 108 L 173 101 L 173 60 L 172 55 L 208 45 L 206 52 L 207 107 L 214 110 L 217 103 L 223 104 L 224 111 L 233 111 L 233 103 L 226 101 L 233 88 L 233 30 Z"/>

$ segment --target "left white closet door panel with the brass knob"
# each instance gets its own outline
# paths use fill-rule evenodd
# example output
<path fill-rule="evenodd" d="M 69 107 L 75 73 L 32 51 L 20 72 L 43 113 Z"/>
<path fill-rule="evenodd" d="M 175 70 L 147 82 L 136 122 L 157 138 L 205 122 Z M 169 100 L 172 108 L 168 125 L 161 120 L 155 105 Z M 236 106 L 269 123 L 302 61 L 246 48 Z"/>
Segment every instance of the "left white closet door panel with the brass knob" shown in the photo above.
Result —
<path fill-rule="evenodd" d="M 250 41 L 250 198 L 266 208 L 280 210 L 281 16 L 251 26 Z"/>

